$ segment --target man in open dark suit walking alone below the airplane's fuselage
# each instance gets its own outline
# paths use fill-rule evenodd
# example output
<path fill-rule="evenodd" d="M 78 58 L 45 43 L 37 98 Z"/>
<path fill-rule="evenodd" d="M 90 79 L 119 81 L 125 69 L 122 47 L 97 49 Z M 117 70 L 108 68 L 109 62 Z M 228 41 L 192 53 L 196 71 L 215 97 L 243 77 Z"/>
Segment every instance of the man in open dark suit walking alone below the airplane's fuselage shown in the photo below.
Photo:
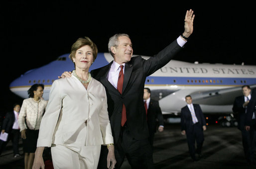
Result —
<path fill-rule="evenodd" d="M 181 108 L 181 134 L 187 136 L 188 150 L 193 161 L 199 160 L 204 143 L 206 122 L 199 104 L 192 104 L 192 97 L 185 97 L 187 105 Z M 195 141 L 197 149 L 195 149 Z M 199 158 L 196 157 L 196 153 Z"/>

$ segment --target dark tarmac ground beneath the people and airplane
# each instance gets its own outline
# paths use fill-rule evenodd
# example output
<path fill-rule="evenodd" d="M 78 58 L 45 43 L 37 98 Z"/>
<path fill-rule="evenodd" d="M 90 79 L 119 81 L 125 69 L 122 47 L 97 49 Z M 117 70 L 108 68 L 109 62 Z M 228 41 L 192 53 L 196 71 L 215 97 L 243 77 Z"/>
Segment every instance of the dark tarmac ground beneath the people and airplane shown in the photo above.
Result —
<path fill-rule="evenodd" d="M 166 124 L 163 132 L 155 134 L 155 169 L 256 169 L 256 166 L 246 163 L 241 132 L 236 127 L 213 124 L 207 126 L 204 136 L 202 158 L 193 162 L 186 136 L 181 135 L 180 124 Z M 21 157 L 14 158 L 10 141 L 0 156 L 0 169 L 24 169 L 21 140 L 19 151 Z M 121 169 L 131 169 L 127 160 Z"/>

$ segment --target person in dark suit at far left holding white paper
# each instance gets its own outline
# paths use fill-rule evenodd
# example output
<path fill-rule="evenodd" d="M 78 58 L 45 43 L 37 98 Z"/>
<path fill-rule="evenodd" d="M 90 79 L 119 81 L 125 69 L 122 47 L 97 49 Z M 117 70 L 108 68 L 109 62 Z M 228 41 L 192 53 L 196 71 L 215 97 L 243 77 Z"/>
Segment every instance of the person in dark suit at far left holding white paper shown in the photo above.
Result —
<path fill-rule="evenodd" d="M 2 122 L 1 133 L 8 133 L 7 141 L 0 140 L 0 155 L 7 143 L 11 140 L 14 158 L 19 157 L 18 142 L 19 142 L 19 126 L 18 113 L 20 110 L 19 104 L 13 105 L 13 111 L 7 112 Z"/>

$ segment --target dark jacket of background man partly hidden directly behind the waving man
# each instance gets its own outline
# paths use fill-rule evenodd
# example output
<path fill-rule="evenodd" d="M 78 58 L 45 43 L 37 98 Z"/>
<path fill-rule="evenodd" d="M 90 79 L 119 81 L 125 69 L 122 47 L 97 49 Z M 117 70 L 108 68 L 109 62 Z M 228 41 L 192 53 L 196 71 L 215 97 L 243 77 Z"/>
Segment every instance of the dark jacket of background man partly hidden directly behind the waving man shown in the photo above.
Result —
<path fill-rule="evenodd" d="M 147 124 L 149 132 L 156 132 L 156 119 L 158 119 L 158 125 L 164 125 L 163 115 L 161 108 L 159 107 L 159 102 L 150 98 L 147 109 Z"/>

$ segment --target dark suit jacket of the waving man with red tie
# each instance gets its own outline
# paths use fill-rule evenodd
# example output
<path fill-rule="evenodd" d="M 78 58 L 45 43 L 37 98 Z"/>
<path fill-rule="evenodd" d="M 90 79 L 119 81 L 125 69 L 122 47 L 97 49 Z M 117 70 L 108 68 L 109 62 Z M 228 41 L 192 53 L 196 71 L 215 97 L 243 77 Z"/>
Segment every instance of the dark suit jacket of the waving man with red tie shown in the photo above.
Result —
<path fill-rule="evenodd" d="M 125 65 L 122 94 L 108 81 L 107 75 L 113 61 L 102 68 L 91 71 L 92 77 L 100 81 L 106 88 L 108 112 L 114 142 L 118 141 L 121 129 L 123 103 L 126 106 L 127 125 L 130 134 L 136 140 L 148 137 L 146 113 L 143 102 L 143 91 L 146 77 L 166 65 L 182 48 L 174 40 L 170 45 L 148 60 L 141 56 L 132 57 Z"/>

